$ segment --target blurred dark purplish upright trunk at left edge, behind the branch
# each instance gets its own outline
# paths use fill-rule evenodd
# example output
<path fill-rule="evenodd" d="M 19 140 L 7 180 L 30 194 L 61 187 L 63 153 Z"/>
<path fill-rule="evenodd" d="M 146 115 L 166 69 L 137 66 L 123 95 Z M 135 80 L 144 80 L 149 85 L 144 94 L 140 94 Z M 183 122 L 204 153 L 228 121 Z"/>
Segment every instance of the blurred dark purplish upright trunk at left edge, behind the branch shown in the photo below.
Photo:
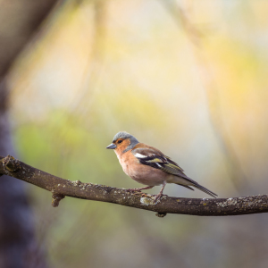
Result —
<path fill-rule="evenodd" d="M 14 153 L 6 100 L 7 88 L 2 81 L 0 86 L 1 155 Z M 38 262 L 38 247 L 34 237 L 33 217 L 25 191 L 26 185 L 19 180 L 6 177 L 0 178 L 0 267 L 34 267 L 30 258 L 35 255 L 37 259 L 34 263 Z M 43 258 L 41 255 L 40 257 Z M 44 260 L 42 263 L 45 264 Z M 35 267 L 46 267 L 46 265 Z"/>

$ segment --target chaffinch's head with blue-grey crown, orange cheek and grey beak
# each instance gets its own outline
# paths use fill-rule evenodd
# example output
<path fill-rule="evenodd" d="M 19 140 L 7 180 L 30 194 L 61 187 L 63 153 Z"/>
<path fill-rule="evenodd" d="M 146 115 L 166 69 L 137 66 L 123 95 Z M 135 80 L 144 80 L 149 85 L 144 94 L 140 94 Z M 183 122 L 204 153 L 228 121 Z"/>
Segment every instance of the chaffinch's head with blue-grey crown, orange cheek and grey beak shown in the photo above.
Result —
<path fill-rule="evenodd" d="M 106 149 L 114 149 L 116 154 L 123 154 L 138 144 L 138 139 L 130 133 L 121 131 L 113 137 L 113 142 Z"/>

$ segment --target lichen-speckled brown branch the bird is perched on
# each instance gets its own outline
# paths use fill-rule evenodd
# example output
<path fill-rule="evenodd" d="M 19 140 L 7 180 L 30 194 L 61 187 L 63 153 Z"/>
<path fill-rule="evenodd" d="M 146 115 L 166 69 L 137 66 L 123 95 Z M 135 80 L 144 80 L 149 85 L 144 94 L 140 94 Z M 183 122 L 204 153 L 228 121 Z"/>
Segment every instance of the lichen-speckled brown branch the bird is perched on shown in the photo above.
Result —
<path fill-rule="evenodd" d="M 216 199 L 164 196 L 155 205 L 155 197 L 151 195 L 140 192 L 133 194 L 123 188 L 83 183 L 80 180 L 64 180 L 22 163 L 11 155 L 0 156 L 0 162 L 0 176 L 5 174 L 50 191 L 53 195 L 53 206 L 59 205 L 63 197 L 75 197 L 154 211 L 159 217 L 165 214 L 227 216 L 268 212 L 267 195 Z"/>

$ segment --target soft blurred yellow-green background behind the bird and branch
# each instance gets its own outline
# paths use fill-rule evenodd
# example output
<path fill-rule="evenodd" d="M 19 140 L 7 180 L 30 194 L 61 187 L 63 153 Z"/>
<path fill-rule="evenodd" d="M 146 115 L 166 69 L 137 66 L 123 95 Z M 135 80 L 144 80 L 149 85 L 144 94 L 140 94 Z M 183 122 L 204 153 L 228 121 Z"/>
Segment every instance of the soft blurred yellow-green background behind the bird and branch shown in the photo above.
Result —
<path fill-rule="evenodd" d="M 2 128 L 11 126 L 21 161 L 68 180 L 137 188 L 105 149 L 126 130 L 219 197 L 267 193 L 266 1 L 19 2 L 0 1 L 0 59 L 9 59 Z M 267 214 L 160 219 L 70 197 L 53 208 L 49 192 L 20 183 L 28 214 L 14 222 L 28 221 L 32 267 L 268 266 Z M 164 193 L 208 197 L 177 185 Z M 2 232 L 8 219 L 2 214 Z M 5 238 L 0 250 L 13 240 Z"/>

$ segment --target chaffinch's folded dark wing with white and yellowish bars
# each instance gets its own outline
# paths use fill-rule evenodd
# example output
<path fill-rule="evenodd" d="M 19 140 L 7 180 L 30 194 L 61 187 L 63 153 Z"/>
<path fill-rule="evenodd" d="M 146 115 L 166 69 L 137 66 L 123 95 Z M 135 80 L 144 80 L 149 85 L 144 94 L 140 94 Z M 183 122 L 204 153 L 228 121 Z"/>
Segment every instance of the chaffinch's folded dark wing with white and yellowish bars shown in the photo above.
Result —
<path fill-rule="evenodd" d="M 170 157 L 163 155 L 161 151 L 154 147 L 139 144 L 133 148 L 132 154 L 138 159 L 139 163 L 147 164 L 163 172 L 191 180 L 184 174 L 183 169 L 180 168 L 178 163 L 173 162 Z"/>

